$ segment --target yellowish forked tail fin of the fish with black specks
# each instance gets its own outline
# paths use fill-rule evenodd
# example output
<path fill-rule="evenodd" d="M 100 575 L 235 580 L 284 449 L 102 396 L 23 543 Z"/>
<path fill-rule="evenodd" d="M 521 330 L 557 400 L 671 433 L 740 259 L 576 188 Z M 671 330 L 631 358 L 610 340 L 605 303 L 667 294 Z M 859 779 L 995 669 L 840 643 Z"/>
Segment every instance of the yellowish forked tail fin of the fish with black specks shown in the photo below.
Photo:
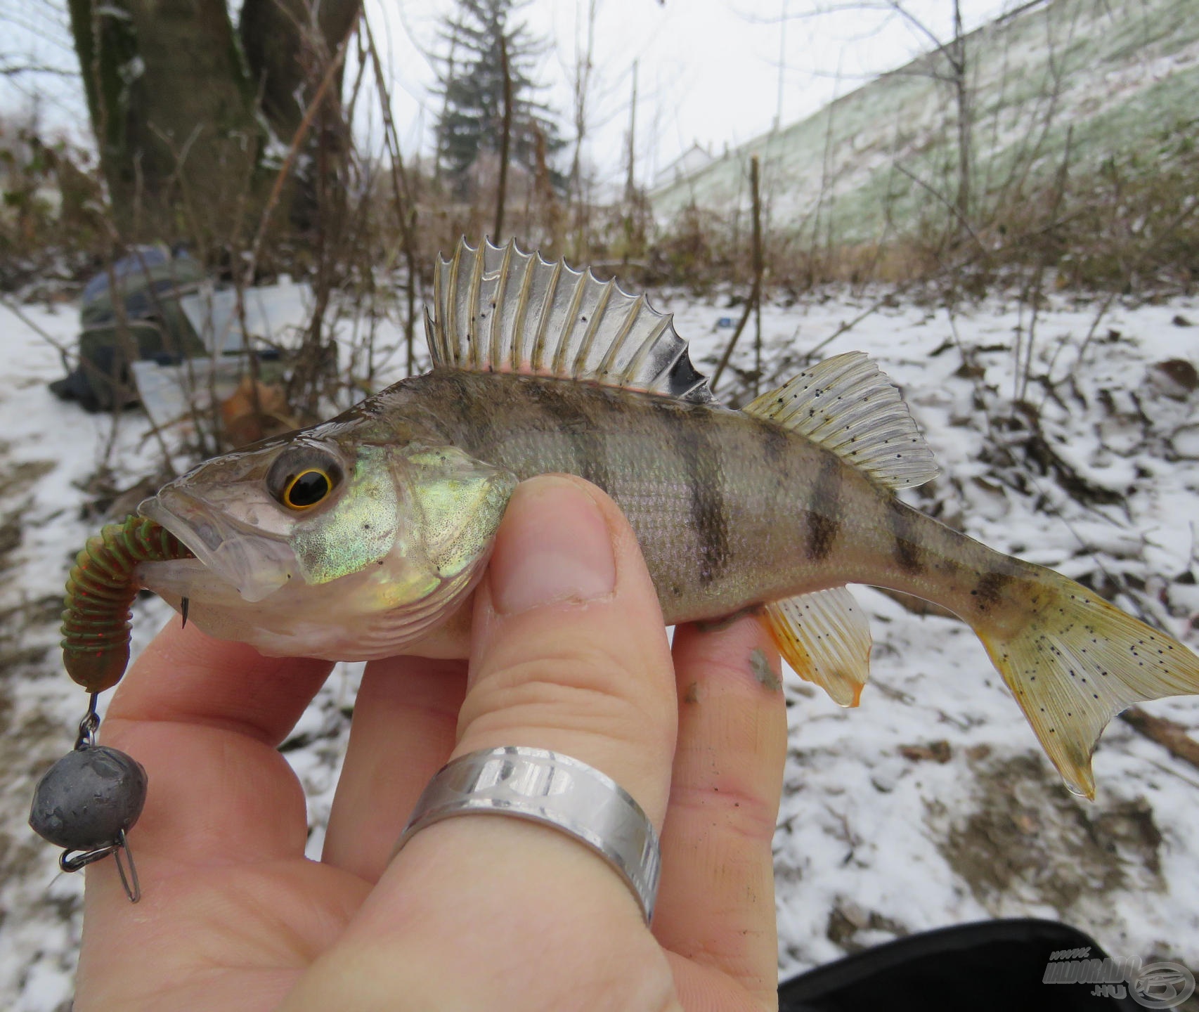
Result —
<path fill-rule="evenodd" d="M 1038 576 L 1023 628 L 975 631 L 1066 785 L 1095 797 L 1091 754 L 1108 721 L 1145 699 L 1199 693 L 1199 656 L 1073 580 Z"/>

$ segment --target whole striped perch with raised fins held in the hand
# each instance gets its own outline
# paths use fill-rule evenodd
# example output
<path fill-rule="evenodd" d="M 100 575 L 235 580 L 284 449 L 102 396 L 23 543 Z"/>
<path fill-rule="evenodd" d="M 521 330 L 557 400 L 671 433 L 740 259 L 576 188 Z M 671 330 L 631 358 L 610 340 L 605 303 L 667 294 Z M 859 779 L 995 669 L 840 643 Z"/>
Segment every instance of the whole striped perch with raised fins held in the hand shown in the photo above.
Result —
<path fill-rule="evenodd" d="M 938 474 L 867 355 L 721 404 L 644 295 L 514 242 L 439 257 L 432 368 L 331 421 L 201 463 L 139 506 L 177 555 L 135 578 L 275 656 L 465 657 L 517 483 L 567 472 L 628 518 L 667 624 L 752 612 L 837 703 L 869 677 L 848 584 L 947 608 L 982 640 L 1066 785 L 1127 706 L 1199 692 L 1199 657 L 1052 570 L 898 495 Z"/>

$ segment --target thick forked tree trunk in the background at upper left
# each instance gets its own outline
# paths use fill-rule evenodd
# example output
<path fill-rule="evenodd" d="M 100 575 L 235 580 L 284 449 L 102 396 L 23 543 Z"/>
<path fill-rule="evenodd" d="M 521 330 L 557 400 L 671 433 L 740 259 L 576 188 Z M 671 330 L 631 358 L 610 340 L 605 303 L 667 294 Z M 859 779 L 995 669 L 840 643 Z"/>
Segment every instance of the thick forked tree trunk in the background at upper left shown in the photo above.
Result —
<path fill-rule="evenodd" d="M 243 61 L 225 0 L 68 0 L 120 237 L 185 239 L 206 259 L 245 246 L 265 195 L 259 96 L 290 143 L 315 88 L 306 73 L 336 53 L 359 2 L 324 0 L 317 35 L 306 0 L 246 0 Z"/>

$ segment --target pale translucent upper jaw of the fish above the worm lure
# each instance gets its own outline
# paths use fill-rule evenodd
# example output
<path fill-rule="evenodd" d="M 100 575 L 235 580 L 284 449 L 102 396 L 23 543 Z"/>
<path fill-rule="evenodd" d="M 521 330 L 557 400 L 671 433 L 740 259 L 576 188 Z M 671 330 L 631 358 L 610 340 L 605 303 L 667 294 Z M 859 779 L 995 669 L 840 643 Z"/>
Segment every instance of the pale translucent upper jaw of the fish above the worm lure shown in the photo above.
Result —
<path fill-rule="evenodd" d="M 164 488 L 144 500 L 138 513 L 175 535 L 243 601 L 261 601 L 299 573 L 295 553 L 285 541 L 242 526 L 186 492 Z"/>

